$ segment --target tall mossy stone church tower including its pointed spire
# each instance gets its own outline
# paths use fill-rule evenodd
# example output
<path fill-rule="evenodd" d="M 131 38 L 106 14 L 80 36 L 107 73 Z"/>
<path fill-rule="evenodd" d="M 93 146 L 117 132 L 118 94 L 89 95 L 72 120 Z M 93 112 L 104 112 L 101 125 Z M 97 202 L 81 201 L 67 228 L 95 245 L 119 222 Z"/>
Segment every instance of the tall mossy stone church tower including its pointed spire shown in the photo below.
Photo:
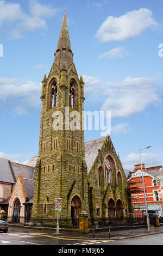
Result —
<path fill-rule="evenodd" d="M 89 205 L 82 129 L 84 82 L 73 63 L 66 13 L 54 56 L 51 71 L 42 81 L 39 157 L 31 217 L 55 218 L 54 198 L 62 198 L 61 217 L 71 218 L 73 223 L 82 210 L 89 214 Z"/>

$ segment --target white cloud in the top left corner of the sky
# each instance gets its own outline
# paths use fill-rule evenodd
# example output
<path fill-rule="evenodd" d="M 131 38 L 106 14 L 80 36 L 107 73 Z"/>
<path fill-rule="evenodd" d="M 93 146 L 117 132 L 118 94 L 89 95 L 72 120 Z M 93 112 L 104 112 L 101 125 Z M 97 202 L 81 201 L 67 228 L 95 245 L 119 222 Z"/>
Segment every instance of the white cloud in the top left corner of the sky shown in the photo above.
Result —
<path fill-rule="evenodd" d="M 41 5 L 37 1 L 30 1 L 30 15 L 24 13 L 20 4 L 0 1 L 0 26 L 4 22 L 15 21 L 14 28 L 9 33 L 11 38 L 22 38 L 24 32 L 34 32 L 36 29 L 47 29 L 46 20 L 57 13 L 57 8 L 51 5 Z M 12 24 L 11 24 L 12 26 Z"/>

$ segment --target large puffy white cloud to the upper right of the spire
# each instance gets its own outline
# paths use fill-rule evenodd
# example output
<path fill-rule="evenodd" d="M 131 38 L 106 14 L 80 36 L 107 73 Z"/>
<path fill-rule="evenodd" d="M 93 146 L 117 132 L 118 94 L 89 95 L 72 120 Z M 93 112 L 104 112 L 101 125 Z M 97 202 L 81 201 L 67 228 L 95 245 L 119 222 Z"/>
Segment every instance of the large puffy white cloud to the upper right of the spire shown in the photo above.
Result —
<path fill-rule="evenodd" d="M 99 27 L 96 37 L 102 42 L 124 41 L 140 35 L 145 29 L 159 26 L 147 8 L 129 11 L 120 17 L 108 16 Z"/>

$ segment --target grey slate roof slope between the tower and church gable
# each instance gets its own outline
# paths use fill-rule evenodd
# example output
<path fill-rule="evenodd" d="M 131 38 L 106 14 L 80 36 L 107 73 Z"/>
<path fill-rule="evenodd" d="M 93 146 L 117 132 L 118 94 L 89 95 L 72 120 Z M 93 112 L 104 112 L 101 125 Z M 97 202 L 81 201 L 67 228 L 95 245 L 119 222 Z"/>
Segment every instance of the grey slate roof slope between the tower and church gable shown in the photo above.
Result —
<path fill-rule="evenodd" d="M 101 149 L 104 140 L 105 137 L 95 139 L 95 141 L 85 142 L 85 162 L 87 164 L 87 173 L 89 173 L 98 154 L 98 149 Z"/>

